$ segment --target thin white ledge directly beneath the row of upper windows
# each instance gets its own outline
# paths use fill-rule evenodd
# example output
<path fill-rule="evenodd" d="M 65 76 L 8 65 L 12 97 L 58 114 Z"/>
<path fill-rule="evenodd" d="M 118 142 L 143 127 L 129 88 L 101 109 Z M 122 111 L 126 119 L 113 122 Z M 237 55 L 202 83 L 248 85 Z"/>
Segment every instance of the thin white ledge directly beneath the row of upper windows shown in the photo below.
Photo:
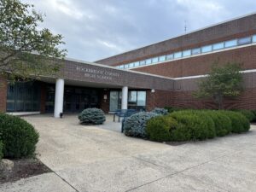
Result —
<path fill-rule="evenodd" d="M 227 50 L 241 49 L 241 48 L 250 47 L 250 46 L 255 46 L 255 45 L 256 45 L 256 43 L 252 43 L 252 44 L 239 45 L 239 46 L 231 47 L 231 48 L 227 48 L 227 49 L 218 49 L 218 50 L 213 50 L 213 51 L 207 52 L 207 53 L 201 53 L 201 54 L 198 54 L 198 55 L 190 55 L 190 56 L 181 57 L 181 58 L 177 58 L 177 59 L 172 59 L 172 60 L 168 60 L 168 61 L 161 61 L 161 62 L 151 63 L 151 64 L 149 64 L 149 65 L 138 66 L 138 67 L 132 67 L 132 68 L 129 68 L 128 70 L 135 69 L 135 68 L 142 68 L 142 67 L 154 66 L 154 65 L 158 65 L 158 64 L 162 64 L 162 63 L 166 63 L 166 62 L 177 61 L 177 60 L 185 60 L 185 59 L 189 59 L 189 58 L 193 58 L 193 57 L 197 57 L 197 56 L 215 54 L 215 53 L 224 52 L 224 51 L 227 51 Z M 124 65 L 126 65 L 126 64 L 124 64 Z"/>

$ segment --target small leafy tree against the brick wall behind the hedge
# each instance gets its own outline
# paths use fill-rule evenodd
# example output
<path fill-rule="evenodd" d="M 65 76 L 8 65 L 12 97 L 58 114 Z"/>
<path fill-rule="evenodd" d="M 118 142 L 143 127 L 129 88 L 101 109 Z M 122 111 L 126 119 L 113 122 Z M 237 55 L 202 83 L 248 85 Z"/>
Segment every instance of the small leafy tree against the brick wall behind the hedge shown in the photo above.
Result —
<path fill-rule="evenodd" d="M 218 62 L 212 65 L 210 73 L 199 82 L 199 90 L 194 92 L 196 98 L 213 99 L 218 104 L 218 109 L 223 109 L 224 98 L 235 98 L 242 91 L 241 64 L 225 63 L 222 66 Z"/>

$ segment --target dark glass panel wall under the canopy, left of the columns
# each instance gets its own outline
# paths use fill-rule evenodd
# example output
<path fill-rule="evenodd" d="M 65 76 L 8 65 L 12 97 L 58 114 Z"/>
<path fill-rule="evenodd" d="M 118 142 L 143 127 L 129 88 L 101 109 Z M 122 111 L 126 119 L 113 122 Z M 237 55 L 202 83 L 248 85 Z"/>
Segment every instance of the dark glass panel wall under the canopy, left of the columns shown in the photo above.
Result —
<path fill-rule="evenodd" d="M 36 81 L 8 84 L 7 112 L 40 111 L 40 84 Z"/>

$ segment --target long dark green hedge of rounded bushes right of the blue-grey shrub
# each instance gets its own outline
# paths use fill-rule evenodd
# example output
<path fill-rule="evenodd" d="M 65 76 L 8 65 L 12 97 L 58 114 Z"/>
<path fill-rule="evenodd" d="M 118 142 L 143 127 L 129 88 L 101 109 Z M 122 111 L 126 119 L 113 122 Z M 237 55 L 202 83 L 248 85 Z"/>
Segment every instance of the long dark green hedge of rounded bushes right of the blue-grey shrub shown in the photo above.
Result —
<path fill-rule="evenodd" d="M 158 142 L 205 140 L 230 132 L 248 131 L 248 119 L 239 112 L 182 110 L 148 120 L 148 138 Z"/>

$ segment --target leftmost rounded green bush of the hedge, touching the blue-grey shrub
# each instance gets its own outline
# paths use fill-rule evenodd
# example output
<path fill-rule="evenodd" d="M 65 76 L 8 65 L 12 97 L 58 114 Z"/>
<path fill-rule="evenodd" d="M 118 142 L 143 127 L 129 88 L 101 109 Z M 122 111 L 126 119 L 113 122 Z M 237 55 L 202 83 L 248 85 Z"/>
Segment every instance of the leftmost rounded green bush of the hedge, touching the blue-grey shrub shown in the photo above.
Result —
<path fill-rule="evenodd" d="M 172 130 L 177 128 L 177 121 L 170 116 L 157 116 L 147 122 L 146 133 L 150 140 L 157 142 L 172 141 Z"/>

